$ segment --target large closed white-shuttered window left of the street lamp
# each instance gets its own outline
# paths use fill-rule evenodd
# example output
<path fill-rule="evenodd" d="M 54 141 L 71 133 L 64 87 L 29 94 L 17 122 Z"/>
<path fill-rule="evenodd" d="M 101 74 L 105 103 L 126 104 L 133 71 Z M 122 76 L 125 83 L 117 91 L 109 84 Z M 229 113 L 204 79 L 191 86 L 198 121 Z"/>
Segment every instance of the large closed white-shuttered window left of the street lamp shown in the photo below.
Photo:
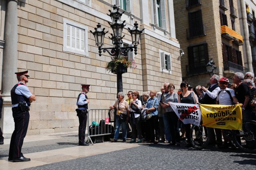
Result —
<path fill-rule="evenodd" d="M 88 56 L 88 27 L 63 19 L 63 51 Z"/>

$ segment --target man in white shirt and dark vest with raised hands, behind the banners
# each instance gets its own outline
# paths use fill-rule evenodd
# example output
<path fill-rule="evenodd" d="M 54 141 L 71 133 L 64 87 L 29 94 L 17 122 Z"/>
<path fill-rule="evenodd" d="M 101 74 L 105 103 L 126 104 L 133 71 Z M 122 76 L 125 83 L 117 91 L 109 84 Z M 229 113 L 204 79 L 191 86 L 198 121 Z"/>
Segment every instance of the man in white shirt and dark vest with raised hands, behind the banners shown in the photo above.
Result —
<path fill-rule="evenodd" d="M 202 104 L 215 104 L 217 93 L 220 90 L 218 83 L 219 83 L 219 76 L 216 74 L 213 74 L 213 76 L 210 78 L 210 87 L 206 89 L 204 86 L 202 86 L 203 91 L 206 93 L 204 95 L 204 99 L 202 100 Z M 214 130 L 215 130 L 216 136 L 221 135 L 220 129 L 208 128 L 208 132 L 209 132 L 208 136 L 210 139 L 210 144 L 215 144 L 215 141 L 216 141 Z M 221 142 L 217 141 L 217 145 L 221 146 L 222 140 Z"/>

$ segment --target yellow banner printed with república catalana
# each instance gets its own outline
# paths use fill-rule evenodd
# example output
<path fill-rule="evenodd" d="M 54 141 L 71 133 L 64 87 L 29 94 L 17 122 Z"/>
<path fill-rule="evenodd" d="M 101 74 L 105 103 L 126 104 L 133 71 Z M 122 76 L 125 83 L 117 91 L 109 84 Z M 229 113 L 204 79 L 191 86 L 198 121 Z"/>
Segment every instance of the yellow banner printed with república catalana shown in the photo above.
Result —
<path fill-rule="evenodd" d="M 242 109 L 240 104 L 200 104 L 203 125 L 219 129 L 241 130 Z"/>

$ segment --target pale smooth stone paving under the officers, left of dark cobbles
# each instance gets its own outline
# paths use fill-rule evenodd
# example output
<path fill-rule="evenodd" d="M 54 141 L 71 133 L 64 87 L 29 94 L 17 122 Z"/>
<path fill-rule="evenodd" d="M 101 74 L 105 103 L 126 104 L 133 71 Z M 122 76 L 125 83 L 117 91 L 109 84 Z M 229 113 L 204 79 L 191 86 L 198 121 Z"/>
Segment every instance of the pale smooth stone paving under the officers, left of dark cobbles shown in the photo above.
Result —
<path fill-rule="evenodd" d="M 128 142 L 78 146 L 78 132 L 31 135 L 26 136 L 22 147 L 22 153 L 31 161 L 17 163 L 8 161 L 9 143 L 10 139 L 5 139 L 4 145 L 0 145 L 0 170 L 31 168 L 139 146 L 137 143 Z"/>

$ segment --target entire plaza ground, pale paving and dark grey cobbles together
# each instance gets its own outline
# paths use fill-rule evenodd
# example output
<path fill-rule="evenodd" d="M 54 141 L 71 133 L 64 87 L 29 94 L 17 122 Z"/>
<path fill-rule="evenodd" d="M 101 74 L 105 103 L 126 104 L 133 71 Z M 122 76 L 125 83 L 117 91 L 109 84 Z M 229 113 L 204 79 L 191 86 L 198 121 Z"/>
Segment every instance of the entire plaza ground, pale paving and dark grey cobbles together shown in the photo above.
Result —
<path fill-rule="evenodd" d="M 28 162 L 9 162 L 10 139 L 0 145 L 0 170 L 85 170 L 85 169 L 256 169 L 256 154 L 241 150 L 207 147 L 203 150 L 182 145 L 103 142 L 78 146 L 78 132 L 26 136 L 22 148 Z"/>

